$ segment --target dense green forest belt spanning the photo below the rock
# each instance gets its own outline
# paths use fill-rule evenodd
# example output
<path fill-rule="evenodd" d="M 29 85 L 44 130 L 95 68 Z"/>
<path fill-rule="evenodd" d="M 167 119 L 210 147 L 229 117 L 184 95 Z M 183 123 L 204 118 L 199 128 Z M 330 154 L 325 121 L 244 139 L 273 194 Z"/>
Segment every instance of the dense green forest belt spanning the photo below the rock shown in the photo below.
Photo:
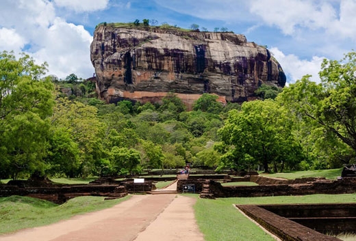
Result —
<path fill-rule="evenodd" d="M 288 87 L 262 85 L 257 100 L 192 111 L 174 93 L 160 103 L 105 104 L 94 83 L 47 75 L 47 63 L 0 53 L 0 178 L 126 175 L 192 167 L 288 171 L 355 162 L 356 53 L 323 61 Z"/>

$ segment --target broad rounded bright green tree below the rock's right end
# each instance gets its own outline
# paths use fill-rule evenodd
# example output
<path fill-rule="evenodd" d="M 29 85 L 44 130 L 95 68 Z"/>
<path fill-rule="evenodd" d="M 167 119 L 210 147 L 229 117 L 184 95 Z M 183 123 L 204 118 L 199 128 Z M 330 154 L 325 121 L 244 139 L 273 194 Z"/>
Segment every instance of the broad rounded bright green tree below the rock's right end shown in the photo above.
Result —
<path fill-rule="evenodd" d="M 292 132 L 288 112 L 273 100 L 244 102 L 241 111 L 230 111 L 216 150 L 223 154 L 220 167 L 246 169 L 260 163 L 268 172 L 270 163 L 301 159 L 301 147 Z M 277 165 L 274 166 L 277 171 Z"/>

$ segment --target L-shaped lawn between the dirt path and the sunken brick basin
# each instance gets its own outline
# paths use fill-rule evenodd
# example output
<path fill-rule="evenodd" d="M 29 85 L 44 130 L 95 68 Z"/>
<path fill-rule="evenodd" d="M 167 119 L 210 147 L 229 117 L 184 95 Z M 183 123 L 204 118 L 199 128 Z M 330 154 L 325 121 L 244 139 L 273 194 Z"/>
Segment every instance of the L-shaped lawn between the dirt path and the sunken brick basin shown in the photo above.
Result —
<path fill-rule="evenodd" d="M 191 195 L 198 197 L 198 195 Z M 197 199 L 194 205 L 196 222 L 205 241 L 259 240 L 272 241 L 272 237 L 241 214 L 233 204 L 286 204 L 286 203 L 355 203 L 356 194 L 307 195 L 281 197 L 236 197 L 225 199 Z"/>

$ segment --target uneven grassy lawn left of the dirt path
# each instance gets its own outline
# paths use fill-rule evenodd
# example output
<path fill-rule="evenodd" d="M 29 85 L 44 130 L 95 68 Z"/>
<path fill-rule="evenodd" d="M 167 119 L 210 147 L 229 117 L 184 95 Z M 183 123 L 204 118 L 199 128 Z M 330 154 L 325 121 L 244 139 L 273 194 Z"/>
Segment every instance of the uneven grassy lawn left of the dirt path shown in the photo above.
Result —
<path fill-rule="evenodd" d="M 31 197 L 0 198 L 0 233 L 10 233 L 28 227 L 38 227 L 71 218 L 77 214 L 110 208 L 122 199 L 105 200 L 104 197 L 76 197 L 62 205 Z"/>

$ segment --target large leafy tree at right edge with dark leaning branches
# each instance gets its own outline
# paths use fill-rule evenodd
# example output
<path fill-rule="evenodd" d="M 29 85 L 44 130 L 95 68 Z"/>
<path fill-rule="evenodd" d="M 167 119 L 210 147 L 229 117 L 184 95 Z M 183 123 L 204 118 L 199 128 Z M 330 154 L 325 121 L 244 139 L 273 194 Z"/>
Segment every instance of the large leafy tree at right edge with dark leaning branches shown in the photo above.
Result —
<path fill-rule="evenodd" d="M 279 99 L 292 113 L 302 119 L 314 136 L 309 137 L 309 150 L 320 152 L 331 166 L 356 159 L 356 53 L 345 55 L 340 61 L 322 62 L 321 83 L 303 76 L 285 88 Z M 315 136 L 316 133 L 319 133 Z M 342 143 L 344 145 L 342 145 Z M 315 145 L 320 143 L 320 145 Z M 345 146 L 346 145 L 346 146 Z M 318 149 L 317 149 L 318 148 Z M 314 155 L 315 156 L 315 155 Z M 320 158 L 319 158 L 320 159 Z M 315 158 L 314 158 L 314 161 Z M 320 162 L 320 160 L 318 160 Z"/>

